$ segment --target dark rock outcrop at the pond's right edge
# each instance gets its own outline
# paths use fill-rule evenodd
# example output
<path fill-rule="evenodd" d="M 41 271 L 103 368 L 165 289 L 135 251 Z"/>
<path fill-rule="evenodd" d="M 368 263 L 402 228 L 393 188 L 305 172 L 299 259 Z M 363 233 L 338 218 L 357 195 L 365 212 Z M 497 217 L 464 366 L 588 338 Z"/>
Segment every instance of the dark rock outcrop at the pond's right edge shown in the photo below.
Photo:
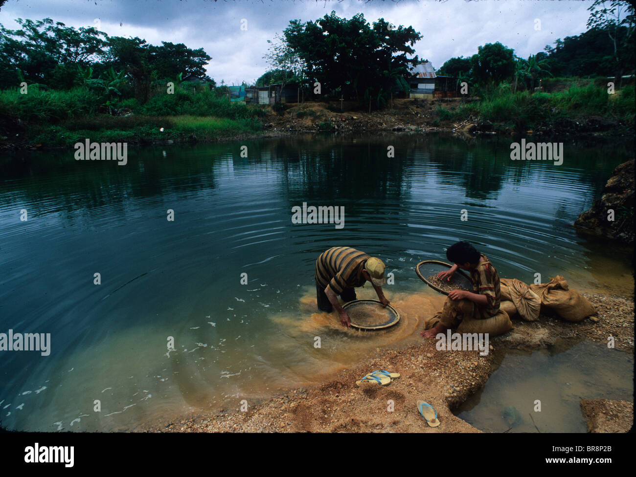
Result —
<path fill-rule="evenodd" d="M 579 215 L 574 226 L 582 232 L 633 244 L 634 159 L 614 169 L 600 199 L 597 199 L 590 210 Z"/>

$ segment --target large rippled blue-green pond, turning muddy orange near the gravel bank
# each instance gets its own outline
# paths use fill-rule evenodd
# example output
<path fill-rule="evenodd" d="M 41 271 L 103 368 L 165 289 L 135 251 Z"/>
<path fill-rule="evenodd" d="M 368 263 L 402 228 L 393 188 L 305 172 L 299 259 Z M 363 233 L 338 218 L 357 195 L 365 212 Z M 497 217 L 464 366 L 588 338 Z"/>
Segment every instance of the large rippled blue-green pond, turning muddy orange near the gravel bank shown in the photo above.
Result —
<path fill-rule="evenodd" d="M 138 429 L 158 415 L 234 408 L 415 342 L 443 302 L 415 265 L 446 260 L 459 239 L 503 278 L 559 273 L 579 291 L 632 293 L 632 251 L 580 238 L 572 222 L 633 145 L 565 142 L 560 166 L 511 161 L 509 146 L 298 135 L 128 148 L 125 166 L 76 162 L 73 150 L 4 156 L 0 333 L 50 333 L 51 347 L 49 356 L 0 351 L 1 425 Z M 343 207 L 343 227 L 293 224 L 303 203 Z M 370 335 L 317 312 L 314 261 L 337 245 L 384 260 L 398 326 Z"/>

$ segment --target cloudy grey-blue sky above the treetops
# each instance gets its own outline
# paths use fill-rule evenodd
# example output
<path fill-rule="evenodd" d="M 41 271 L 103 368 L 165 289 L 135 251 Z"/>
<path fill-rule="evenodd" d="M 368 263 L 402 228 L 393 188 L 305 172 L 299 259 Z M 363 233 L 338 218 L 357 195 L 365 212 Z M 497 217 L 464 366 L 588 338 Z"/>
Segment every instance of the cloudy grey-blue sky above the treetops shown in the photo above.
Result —
<path fill-rule="evenodd" d="M 67 26 L 94 26 L 110 36 L 139 36 L 148 43 L 184 43 L 204 48 L 208 74 L 221 83 L 252 83 L 268 69 L 268 39 L 289 20 L 317 20 L 335 10 L 339 17 L 364 13 L 411 25 L 423 38 L 420 58 L 435 68 L 451 57 L 473 55 L 479 45 L 500 41 L 527 58 L 557 38 L 586 30 L 591 1 L 579 0 L 8 0 L 0 24 L 15 18 L 53 18 Z M 241 29 L 247 20 L 247 30 Z M 245 24 L 245 22 L 243 22 Z"/>

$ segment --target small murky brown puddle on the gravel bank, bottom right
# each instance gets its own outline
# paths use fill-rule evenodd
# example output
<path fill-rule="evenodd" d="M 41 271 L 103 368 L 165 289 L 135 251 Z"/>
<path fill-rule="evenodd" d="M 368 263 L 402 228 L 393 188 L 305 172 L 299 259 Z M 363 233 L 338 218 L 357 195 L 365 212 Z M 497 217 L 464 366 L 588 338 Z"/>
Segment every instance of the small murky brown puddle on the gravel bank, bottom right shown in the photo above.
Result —
<path fill-rule="evenodd" d="M 633 402 L 633 354 L 589 342 L 508 353 L 455 415 L 492 433 L 586 433 L 581 399 Z"/>

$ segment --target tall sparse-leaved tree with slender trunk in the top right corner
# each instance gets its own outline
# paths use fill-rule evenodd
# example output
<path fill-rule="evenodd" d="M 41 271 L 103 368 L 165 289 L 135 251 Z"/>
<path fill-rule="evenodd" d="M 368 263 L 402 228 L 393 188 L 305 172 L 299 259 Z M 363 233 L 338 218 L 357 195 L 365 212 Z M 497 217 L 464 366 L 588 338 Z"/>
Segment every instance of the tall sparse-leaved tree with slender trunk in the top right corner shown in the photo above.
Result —
<path fill-rule="evenodd" d="M 587 27 L 605 30 L 612 42 L 616 72 L 614 84 L 620 87 L 625 63 L 633 62 L 634 6 L 621 0 L 595 0 L 588 11 Z"/>

